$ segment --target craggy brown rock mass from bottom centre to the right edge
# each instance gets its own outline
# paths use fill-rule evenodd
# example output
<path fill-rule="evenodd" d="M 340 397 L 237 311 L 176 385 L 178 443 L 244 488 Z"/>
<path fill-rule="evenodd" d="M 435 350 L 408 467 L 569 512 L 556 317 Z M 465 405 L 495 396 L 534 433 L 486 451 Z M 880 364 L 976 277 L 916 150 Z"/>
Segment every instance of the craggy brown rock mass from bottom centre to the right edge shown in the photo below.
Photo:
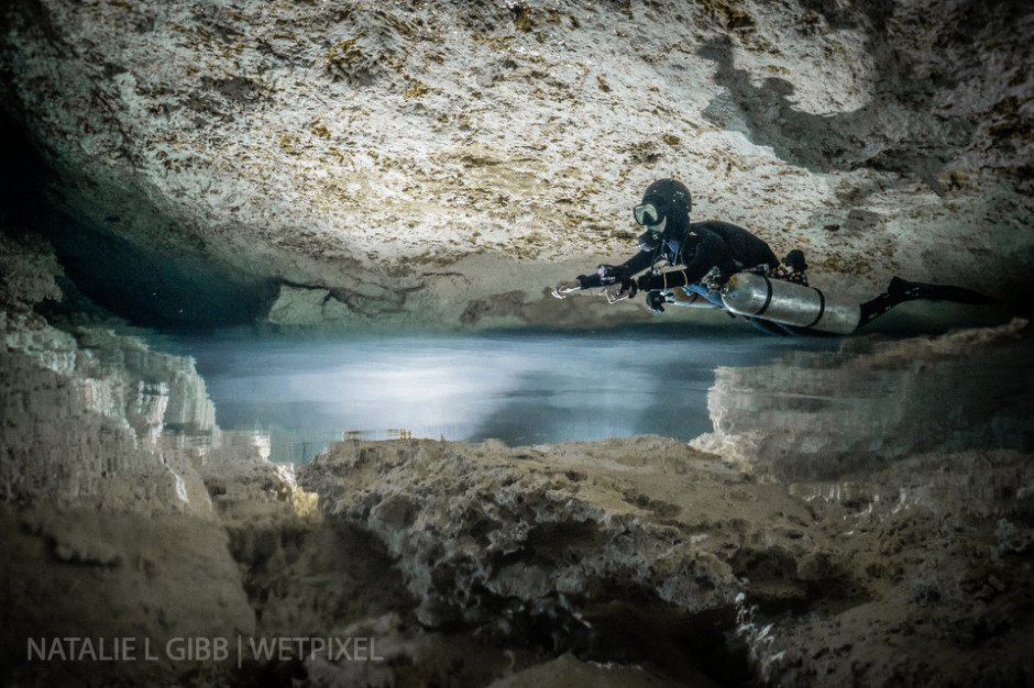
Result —
<path fill-rule="evenodd" d="M 383 544 L 425 626 L 683 685 L 1028 679 L 1034 503 L 1002 489 L 1030 484 L 1028 455 L 920 455 L 789 492 L 716 458 L 659 437 L 349 442 L 301 482 Z"/>

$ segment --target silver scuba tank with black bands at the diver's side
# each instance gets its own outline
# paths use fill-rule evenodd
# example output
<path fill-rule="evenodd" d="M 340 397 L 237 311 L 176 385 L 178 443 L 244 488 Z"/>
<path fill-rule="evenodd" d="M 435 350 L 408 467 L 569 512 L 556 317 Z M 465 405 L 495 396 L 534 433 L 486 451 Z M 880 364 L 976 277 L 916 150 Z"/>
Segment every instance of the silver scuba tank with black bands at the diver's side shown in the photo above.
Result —
<path fill-rule="evenodd" d="M 861 322 L 858 303 L 756 273 L 736 273 L 722 287 L 722 302 L 730 312 L 750 318 L 849 334 Z"/>

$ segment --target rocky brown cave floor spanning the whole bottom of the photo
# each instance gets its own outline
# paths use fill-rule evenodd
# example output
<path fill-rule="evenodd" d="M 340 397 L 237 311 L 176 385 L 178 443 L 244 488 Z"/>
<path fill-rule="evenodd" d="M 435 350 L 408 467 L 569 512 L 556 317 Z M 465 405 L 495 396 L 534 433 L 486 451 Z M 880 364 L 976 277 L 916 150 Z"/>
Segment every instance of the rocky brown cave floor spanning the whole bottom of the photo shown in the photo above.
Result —
<path fill-rule="evenodd" d="M 249 496 L 206 480 L 213 518 L 6 504 L 6 685 L 1030 680 L 1028 455 L 788 493 L 660 437 L 343 443 L 301 474 L 319 517 L 271 466 L 246 473 Z M 32 636 L 242 634 L 369 637 L 378 661 L 19 656 Z"/>

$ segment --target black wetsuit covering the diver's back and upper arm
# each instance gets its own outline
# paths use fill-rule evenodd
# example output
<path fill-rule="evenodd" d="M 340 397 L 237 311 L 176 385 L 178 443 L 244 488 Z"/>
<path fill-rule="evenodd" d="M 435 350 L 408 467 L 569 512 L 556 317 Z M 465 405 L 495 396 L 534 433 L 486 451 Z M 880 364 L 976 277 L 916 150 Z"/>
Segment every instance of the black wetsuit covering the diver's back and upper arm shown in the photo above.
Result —
<path fill-rule="evenodd" d="M 671 219 L 670 219 L 671 220 Z M 728 278 L 744 268 L 766 265 L 771 269 L 779 259 L 763 241 L 741 226 L 728 222 L 688 222 L 685 226 L 666 228 L 653 243 L 622 264 L 630 275 L 656 266 L 661 260 L 669 266 L 684 266 L 667 274 L 647 274 L 639 278 L 638 288 L 649 291 L 674 289 L 697 284 L 712 267 L 717 266 Z M 604 286 L 601 275 L 579 275 L 582 289 Z"/>

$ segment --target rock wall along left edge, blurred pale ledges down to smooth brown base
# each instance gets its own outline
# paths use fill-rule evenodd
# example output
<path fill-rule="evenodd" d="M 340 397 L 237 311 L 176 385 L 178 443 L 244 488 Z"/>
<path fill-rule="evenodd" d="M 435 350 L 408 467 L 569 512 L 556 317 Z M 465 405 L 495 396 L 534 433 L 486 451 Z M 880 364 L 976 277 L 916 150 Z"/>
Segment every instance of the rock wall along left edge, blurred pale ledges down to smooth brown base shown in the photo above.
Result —
<path fill-rule="evenodd" d="M 176 680 L 186 669 L 166 643 L 256 629 L 206 476 L 232 460 L 220 476 L 251 503 L 286 504 L 293 477 L 221 436 L 190 360 L 117 334 L 125 326 L 110 315 L 47 322 L 36 309 L 64 296 L 53 254 L 31 234 L 0 245 L 0 680 Z M 246 468 L 261 478 L 249 484 Z M 138 656 L 150 642 L 157 659 L 77 662 L 63 653 L 81 643 L 47 643 L 51 661 L 26 662 L 30 639 L 65 637 L 109 657 L 133 637 Z"/>

